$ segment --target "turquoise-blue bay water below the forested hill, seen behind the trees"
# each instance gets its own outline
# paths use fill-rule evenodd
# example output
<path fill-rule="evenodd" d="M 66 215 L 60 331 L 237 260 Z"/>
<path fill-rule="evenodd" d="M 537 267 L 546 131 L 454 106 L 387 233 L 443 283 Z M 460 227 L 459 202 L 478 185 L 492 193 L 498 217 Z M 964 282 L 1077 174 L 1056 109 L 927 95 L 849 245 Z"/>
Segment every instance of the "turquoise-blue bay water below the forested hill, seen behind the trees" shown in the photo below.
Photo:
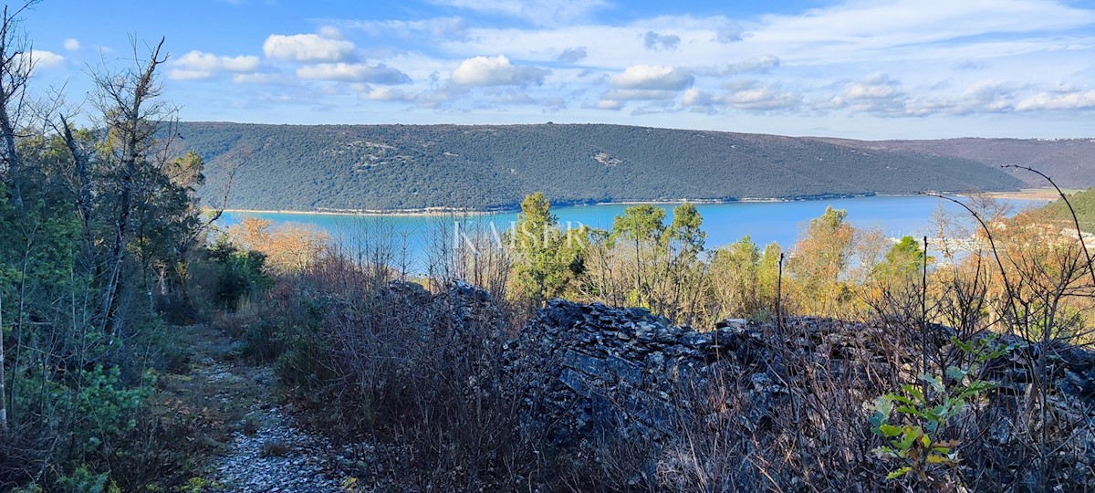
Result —
<path fill-rule="evenodd" d="M 1010 204 L 1014 211 L 1026 207 L 1037 207 L 1045 200 L 1001 200 Z M 703 216 L 703 230 L 707 233 L 706 245 L 714 249 L 733 243 L 749 234 L 753 242 L 763 246 L 776 242 L 784 249 L 798 240 L 806 223 L 832 206 L 848 210 L 849 221 L 856 228 L 879 228 L 886 236 L 900 238 L 911 234 L 933 236 L 930 231 L 931 217 L 938 207 L 966 217 L 965 209 L 957 204 L 935 197 L 856 197 L 804 202 L 758 202 L 733 204 L 698 204 Z M 673 205 L 658 205 L 666 210 L 667 222 L 672 218 Z M 626 205 L 610 204 L 596 206 L 557 207 L 553 213 L 566 226 L 585 225 L 592 228 L 610 229 L 615 216 L 623 214 Z M 324 214 L 285 213 L 224 213 L 223 226 L 238 223 L 244 217 L 257 217 L 275 222 L 299 222 L 314 225 L 327 230 L 348 249 L 362 245 L 387 243 L 410 252 L 412 270 L 425 265 L 428 251 L 437 242 L 453 244 L 459 238 L 457 231 L 480 229 L 503 231 L 517 220 L 517 213 L 502 213 L 471 217 L 453 216 L 339 216 Z M 459 222 L 459 226 L 454 226 Z"/>

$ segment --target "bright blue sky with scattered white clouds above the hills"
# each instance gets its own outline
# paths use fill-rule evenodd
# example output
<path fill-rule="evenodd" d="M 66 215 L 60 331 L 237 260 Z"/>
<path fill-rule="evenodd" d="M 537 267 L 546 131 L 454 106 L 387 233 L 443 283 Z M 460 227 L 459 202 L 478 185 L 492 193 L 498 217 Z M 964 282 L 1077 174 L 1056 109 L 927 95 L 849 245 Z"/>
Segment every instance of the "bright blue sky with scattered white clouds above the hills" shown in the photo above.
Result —
<path fill-rule="evenodd" d="M 183 121 L 1095 138 L 1092 0 L 44 0 L 21 26 L 73 105 L 165 38 Z"/>

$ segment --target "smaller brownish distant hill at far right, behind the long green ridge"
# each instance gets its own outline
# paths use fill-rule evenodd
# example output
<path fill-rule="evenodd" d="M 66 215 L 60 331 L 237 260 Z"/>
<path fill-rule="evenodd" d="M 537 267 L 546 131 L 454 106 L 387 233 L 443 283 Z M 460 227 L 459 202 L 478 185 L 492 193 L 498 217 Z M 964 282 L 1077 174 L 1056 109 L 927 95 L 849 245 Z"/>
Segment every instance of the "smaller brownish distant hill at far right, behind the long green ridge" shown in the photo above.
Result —
<path fill-rule="evenodd" d="M 1095 186 L 1095 138 L 1090 139 L 986 139 L 858 140 L 825 139 L 833 144 L 860 145 L 875 150 L 908 150 L 969 159 L 990 167 L 1030 167 L 1049 175 L 1062 188 Z M 1028 187 L 1049 186 L 1026 170 L 1007 169 Z"/>

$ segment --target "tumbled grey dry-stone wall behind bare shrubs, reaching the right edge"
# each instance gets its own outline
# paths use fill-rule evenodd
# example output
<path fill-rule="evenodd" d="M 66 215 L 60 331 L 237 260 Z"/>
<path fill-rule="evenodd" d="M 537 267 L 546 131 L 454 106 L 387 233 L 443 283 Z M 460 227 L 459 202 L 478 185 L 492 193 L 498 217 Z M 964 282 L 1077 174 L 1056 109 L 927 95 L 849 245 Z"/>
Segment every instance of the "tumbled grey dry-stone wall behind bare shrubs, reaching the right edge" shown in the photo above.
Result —
<path fill-rule="evenodd" d="M 793 423 L 808 442 L 799 448 L 826 454 L 832 447 L 825 433 L 832 433 L 832 421 L 838 420 L 829 410 L 840 406 L 857 414 L 845 421 L 862 432 L 867 427 L 865 403 L 917 381 L 922 341 L 936 358 L 959 360 L 953 335 L 943 326 L 921 334 L 883 323 L 820 318 L 793 318 L 783 324 L 731 319 L 698 332 L 643 309 L 553 300 L 507 344 L 504 378 L 522 399 L 525 432 L 541 434 L 561 450 L 592 456 L 606 439 L 657 448 L 687 435 L 689 427 L 721 420 L 753 439 L 773 424 Z M 1000 341 L 1021 342 L 1006 336 Z M 1019 448 L 1015 429 L 1024 420 L 1021 414 L 1027 413 L 1027 425 L 1040 420 L 1031 417 L 1030 408 L 1040 351 L 1052 353 L 1047 355 L 1052 385 L 1046 420 L 1052 421 L 1048 424 L 1053 436 L 1075 442 L 1067 448 L 1077 454 L 1068 462 L 1074 471 L 1059 480 L 1095 485 L 1095 447 L 1082 443 L 1095 429 L 1091 351 L 1025 345 L 990 362 L 981 378 L 996 381 L 999 388 L 976 403 L 980 411 L 970 419 L 994 416 L 986 425 L 992 434 L 988 440 Z M 827 406 L 827 399 L 846 402 Z M 869 439 L 869 432 L 863 433 Z M 980 460 L 971 452 L 969 460 L 975 459 Z M 1005 477 L 1003 467 L 989 463 L 986 470 Z"/>

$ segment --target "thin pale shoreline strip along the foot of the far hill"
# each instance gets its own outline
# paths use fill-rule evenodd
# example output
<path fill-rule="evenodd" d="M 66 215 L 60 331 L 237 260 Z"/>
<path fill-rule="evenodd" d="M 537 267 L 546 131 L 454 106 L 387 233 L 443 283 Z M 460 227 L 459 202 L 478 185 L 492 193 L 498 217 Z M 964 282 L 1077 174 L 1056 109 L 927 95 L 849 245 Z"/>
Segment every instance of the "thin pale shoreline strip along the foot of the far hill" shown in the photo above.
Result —
<path fill-rule="evenodd" d="M 1065 194 L 1075 191 L 1064 191 Z M 986 192 L 982 194 L 970 194 L 970 193 L 949 193 L 942 195 L 952 195 L 959 197 L 968 197 L 971 195 L 986 195 L 992 198 L 1005 198 L 1005 199 L 1025 199 L 1025 200 L 1056 200 L 1059 196 L 1057 191 L 1053 188 L 1022 188 L 1019 191 L 1012 192 Z M 703 198 L 703 199 L 678 199 L 678 200 L 612 200 L 612 202 L 596 202 L 596 203 L 562 203 L 552 204 L 556 207 L 597 207 L 597 206 L 608 206 L 608 205 L 678 205 L 678 204 L 757 204 L 757 203 L 784 203 L 784 202 L 814 202 L 814 200 L 830 200 L 840 198 L 864 198 L 864 197 L 915 197 L 915 196 L 927 196 L 925 194 L 832 194 L 832 195 L 818 195 L 811 197 L 796 197 L 796 198 L 764 198 L 764 197 L 744 197 L 733 200 L 717 199 L 717 198 Z M 211 210 L 211 209 L 207 209 Z M 293 210 L 293 209 L 238 209 L 229 208 L 223 209 L 224 213 L 231 214 L 286 214 L 286 215 L 312 215 L 312 216 L 370 216 L 370 217 L 382 217 L 382 216 L 393 216 L 393 217 L 443 217 L 449 215 L 462 215 L 462 216 L 491 216 L 497 214 L 511 214 L 520 211 L 520 207 L 512 208 L 497 208 L 497 209 L 463 209 L 463 208 L 450 208 L 450 207 L 427 207 L 423 209 L 316 209 L 316 210 Z"/>

